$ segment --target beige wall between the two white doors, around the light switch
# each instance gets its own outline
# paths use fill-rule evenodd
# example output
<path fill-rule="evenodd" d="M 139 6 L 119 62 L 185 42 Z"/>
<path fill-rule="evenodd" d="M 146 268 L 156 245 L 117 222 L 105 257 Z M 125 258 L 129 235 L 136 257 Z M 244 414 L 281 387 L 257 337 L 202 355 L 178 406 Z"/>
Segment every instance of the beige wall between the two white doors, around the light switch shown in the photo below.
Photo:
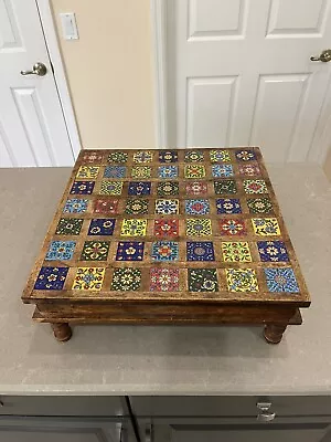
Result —
<path fill-rule="evenodd" d="M 51 0 L 84 148 L 154 147 L 150 0 Z M 58 12 L 75 12 L 65 41 Z"/>

